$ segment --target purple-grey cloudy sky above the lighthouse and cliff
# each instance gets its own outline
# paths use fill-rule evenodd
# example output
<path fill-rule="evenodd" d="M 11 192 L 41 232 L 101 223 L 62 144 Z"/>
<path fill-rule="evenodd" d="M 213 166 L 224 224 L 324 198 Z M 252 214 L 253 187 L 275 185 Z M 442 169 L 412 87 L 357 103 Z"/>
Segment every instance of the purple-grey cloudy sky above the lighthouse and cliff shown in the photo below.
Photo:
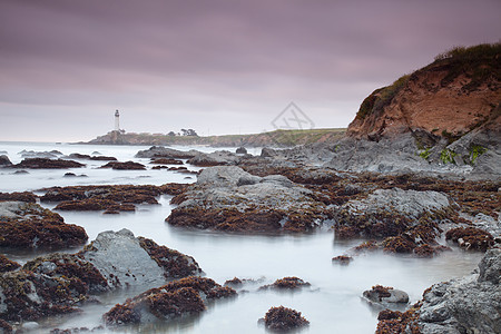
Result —
<path fill-rule="evenodd" d="M 499 0 L 0 0 L 0 140 L 114 128 L 273 130 L 292 101 L 346 127 L 374 89 L 497 42 Z"/>

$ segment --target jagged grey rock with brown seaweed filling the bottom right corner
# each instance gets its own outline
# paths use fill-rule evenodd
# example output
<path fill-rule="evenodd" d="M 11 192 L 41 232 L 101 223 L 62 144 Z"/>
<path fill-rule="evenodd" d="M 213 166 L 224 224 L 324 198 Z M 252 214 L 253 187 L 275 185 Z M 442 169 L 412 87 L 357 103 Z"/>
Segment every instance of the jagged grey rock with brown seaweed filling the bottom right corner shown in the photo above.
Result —
<path fill-rule="evenodd" d="M 433 285 L 405 313 L 380 320 L 376 333 L 501 333 L 500 277 L 501 249 L 493 248 L 479 271 Z"/>

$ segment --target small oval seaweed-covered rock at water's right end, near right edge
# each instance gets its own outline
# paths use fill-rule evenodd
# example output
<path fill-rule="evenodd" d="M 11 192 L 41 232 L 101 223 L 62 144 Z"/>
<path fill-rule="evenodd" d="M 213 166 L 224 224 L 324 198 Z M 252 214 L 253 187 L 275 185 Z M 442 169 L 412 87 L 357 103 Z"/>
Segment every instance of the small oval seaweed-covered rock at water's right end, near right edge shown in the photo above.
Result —
<path fill-rule="evenodd" d="M 477 227 L 458 227 L 445 233 L 445 239 L 458 243 L 464 249 L 487 250 L 494 245 L 494 237 Z"/>

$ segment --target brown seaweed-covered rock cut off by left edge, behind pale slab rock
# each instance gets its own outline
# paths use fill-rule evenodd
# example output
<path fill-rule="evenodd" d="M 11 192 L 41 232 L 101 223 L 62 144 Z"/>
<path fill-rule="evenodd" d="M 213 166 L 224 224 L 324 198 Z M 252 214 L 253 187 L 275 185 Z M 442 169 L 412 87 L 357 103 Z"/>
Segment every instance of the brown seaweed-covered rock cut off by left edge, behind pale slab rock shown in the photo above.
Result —
<path fill-rule="evenodd" d="M 38 204 L 0 202 L 0 246 L 62 248 L 85 244 L 82 227 L 66 224 L 61 216 Z"/>

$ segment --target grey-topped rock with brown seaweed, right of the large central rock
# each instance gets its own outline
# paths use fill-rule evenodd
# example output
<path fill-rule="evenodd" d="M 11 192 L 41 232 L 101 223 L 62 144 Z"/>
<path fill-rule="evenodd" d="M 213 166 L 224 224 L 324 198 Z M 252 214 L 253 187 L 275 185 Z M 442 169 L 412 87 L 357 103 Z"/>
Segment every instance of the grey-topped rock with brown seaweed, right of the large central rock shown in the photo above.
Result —
<path fill-rule="evenodd" d="M 333 206 L 338 238 L 385 238 L 385 250 L 412 253 L 436 245 L 439 222 L 452 210 L 448 196 L 438 191 L 376 189 L 366 198 Z M 416 250 L 421 256 L 424 249 Z M 434 250 L 433 250 L 434 252 Z M 432 252 L 432 253 L 433 253 Z"/>

